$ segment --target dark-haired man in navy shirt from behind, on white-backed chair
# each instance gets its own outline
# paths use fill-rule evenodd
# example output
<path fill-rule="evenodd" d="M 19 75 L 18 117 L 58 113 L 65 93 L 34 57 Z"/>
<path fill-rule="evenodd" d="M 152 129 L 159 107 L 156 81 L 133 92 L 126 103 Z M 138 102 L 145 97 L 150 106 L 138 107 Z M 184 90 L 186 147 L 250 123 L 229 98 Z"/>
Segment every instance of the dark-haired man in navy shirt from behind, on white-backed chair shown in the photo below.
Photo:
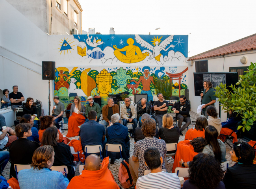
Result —
<path fill-rule="evenodd" d="M 85 153 L 84 147 L 86 145 L 101 145 L 101 150 L 106 144 L 105 136 L 106 131 L 102 124 L 97 123 L 97 112 L 94 110 L 89 111 L 88 113 L 89 121 L 81 125 L 79 131 L 79 140 L 82 143 L 82 149 Z M 87 153 L 87 156 L 89 153 Z M 98 153 L 98 156 L 100 153 Z"/>

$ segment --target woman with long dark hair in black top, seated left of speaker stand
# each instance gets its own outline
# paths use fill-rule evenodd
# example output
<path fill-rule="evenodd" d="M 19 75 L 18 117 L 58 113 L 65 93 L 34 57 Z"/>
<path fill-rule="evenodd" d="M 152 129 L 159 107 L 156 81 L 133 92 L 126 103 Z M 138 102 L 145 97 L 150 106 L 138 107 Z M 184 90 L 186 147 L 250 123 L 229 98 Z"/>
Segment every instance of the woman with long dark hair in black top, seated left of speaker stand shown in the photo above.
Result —
<path fill-rule="evenodd" d="M 26 100 L 26 105 L 22 107 L 23 113 L 24 114 L 30 114 L 33 116 L 33 122 L 34 125 L 33 127 L 37 128 L 37 131 L 39 130 L 38 128 L 38 118 L 37 118 L 37 107 L 33 105 L 34 100 L 33 98 L 27 98 Z"/>

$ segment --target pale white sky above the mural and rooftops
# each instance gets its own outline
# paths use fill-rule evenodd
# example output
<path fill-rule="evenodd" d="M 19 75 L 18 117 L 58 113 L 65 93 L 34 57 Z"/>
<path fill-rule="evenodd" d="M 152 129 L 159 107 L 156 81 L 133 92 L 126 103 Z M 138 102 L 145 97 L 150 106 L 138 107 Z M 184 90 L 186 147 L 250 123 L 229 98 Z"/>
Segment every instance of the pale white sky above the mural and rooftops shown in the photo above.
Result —
<path fill-rule="evenodd" d="M 79 0 L 82 30 L 189 35 L 188 57 L 256 33 L 256 0 Z M 160 28 L 155 30 L 156 28 Z"/>

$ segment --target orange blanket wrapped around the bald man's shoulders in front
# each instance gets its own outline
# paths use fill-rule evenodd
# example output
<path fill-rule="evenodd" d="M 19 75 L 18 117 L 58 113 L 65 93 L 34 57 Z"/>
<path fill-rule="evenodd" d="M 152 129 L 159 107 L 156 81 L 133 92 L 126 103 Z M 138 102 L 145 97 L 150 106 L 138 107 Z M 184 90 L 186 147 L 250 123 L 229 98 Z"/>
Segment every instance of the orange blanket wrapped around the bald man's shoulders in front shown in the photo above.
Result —
<path fill-rule="evenodd" d="M 108 169 L 108 164 L 109 157 L 103 159 L 100 170 L 83 170 L 81 175 L 72 178 L 67 189 L 120 189 L 111 171 Z"/>

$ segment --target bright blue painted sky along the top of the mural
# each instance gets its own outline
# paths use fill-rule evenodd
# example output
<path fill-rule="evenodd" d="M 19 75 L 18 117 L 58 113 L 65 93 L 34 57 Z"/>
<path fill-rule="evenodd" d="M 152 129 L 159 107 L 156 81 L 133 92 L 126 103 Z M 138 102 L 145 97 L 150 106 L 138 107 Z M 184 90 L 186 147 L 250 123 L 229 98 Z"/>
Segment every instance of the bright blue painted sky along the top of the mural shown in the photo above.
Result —
<path fill-rule="evenodd" d="M 113 45 L 116 45 L 117 48 L 123 48 L 124 46 L 127 46 L 128 44 L 126 43 L 128 38 L 132 38 L 135 41 L 135 35 L 89 35 L 91 37 L 91 41 L 95 38 L 96 40 L 101 39 L 103 44 L 98 45 L 99 48 L 104 50 L 107 46 L 111 46 L 113 48 Z M 150 45 L 152 45 L 152 41 L 154 38 L 158 39 L 161 37 L 161 42 L 165 40 L 167 37 L 170 35 L 139 35 L 143 40 L 147 41 Z M 86 43 L 86 40 L 88 39 L 87 35 L 74 35 L 74 38 L 77 39 L 80 42 Z M 153 39 L 152 39 L 153 38 Z M 160 42 L 160 43 L 161 43 Z M 185 57 L 188 55 L 188 35 L 174 35 L 173 36 L 173 41 L 166 46 L 168 48 L 171 44 L 175 45 L 173 48 L 169 48 L 169 50 L 174 50 L 174 52 L 181 52 Z M 134 45 L 139 46 L 141 51 L 147 50 L 147 48 L 141 46 L 139 43 L 136 41 L 134 42 Z M 88 50 L 93 50 L 94 47 L 91 47 L 87 45 Z M 161 51 L 161 54 L 163 56 L 167 55 L 169 50 L 167 52 Z M 122 52 L 123 53 L 123 52 Z"/>

